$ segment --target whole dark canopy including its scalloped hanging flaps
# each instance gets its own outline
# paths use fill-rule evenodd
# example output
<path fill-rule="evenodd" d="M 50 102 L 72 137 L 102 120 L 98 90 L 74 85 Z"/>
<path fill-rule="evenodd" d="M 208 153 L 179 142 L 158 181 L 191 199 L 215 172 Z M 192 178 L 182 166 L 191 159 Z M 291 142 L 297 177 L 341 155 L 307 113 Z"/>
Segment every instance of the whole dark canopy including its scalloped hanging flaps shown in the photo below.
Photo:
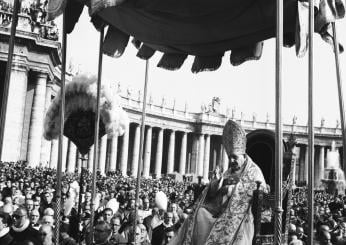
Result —
<path fill-rule="evenodd" d="M 343 17 L 344 0 L 316 2 L 320 27 L 315 31 Z M 307 7 L 298 0 L 283 4 L 285 46 L 304 45 Z M 110 26 L 104 41 L 106 54 L 121 56 L 132 36 L 138 57 L 149 59 L 161 51 L 158 66 L 171 70 L 180 68 L 188 55 L 195 56 L 193 72 L 217 69 L 230 50 L 233 65 L 259 59 L 263 40 L 275 37 L 276 0 L 51 0 L 48 12 L 54 17 L 66 8 L 67 31 L 72 32 L 85 5 L 96 28 Z M 328 32 L 323 30 L 326 40 Z"/>

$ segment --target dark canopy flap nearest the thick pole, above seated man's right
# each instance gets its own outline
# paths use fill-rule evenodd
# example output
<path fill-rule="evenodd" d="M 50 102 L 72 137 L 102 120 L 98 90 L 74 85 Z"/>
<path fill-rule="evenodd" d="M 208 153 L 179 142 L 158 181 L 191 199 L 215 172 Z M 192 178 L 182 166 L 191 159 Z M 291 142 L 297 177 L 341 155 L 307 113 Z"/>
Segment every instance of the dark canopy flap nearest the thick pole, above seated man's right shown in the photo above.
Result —
<path fill-rule="evenodd" d="M 262 55 L 263 42 L 258 42 L 254 45 L 244 46 L 233 49 L 231 53 L 231 64 L 238 66 L 249 60 L 259 60 Z"/>

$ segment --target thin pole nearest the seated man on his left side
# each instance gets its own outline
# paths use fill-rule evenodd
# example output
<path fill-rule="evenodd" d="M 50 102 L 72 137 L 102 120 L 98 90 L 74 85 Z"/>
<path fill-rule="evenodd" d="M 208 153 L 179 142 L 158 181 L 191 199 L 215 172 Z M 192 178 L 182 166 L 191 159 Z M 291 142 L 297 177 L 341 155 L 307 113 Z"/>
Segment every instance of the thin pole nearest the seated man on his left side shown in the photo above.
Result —
<path fill-rule="evenodd" d="M 149 60 L 146 60 L 145 61 L 145 79 L 144 79 L 142 122 L 141 122 L 141 138 L 140 138 L 140 144 L 139 144 L 139 158 L 138 158 L 138 170 L 137 170 L 135 221 L 133 224 L 134 244 L 137 244 L 136 243 L 136 226 L 137 226 L 137 214 L 138 214 L 138 202 L 139 202 L 139 189 L 141 188 L 141 172 L 142 172 L 142 162 L 143 162 L 143 142 L 144 142 L 144 131 L 145 131 L 145 113 L 146 113 L 147 90 L 148 90 L 148 72 L 149 72 Z"/>

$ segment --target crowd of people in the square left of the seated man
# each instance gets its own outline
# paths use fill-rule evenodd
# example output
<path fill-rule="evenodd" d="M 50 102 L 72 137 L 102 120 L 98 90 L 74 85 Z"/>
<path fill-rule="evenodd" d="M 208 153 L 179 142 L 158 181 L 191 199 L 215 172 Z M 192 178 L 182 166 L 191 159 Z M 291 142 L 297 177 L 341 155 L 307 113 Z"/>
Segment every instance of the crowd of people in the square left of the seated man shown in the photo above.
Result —
<path fill-rule="evenodd" d="M 25 163 L 1 163 L 0 171 L 0 244 L 53 244 L 56 171 L 49 168 L 30 169 L 25 167 Z M 91 174 L 84 170 L 80 187 L 77 181 L 80 181 L 78 173 L 63 176 L 61 244 L 88 244 L 92 208 Z M 105 241 L 110 244 L 131 244 L 134 235 L 135 184 L 136 179 L 122 177 L 118 172 L 97 176 L 95 244 L 104 244 Z M 192 212 L 192 205 L 201 187 L 168 177 L 143 179 L 135 230 L 137 244 L 167 244 Z M 79 188 L 80 203 L 76 194 Z M 165 193 L 164 197 L 167 197 L 167 200 L 161 200 L 162 204 L 155 200 L 158 192 Z M 2 241 L 3 229 L 9 230 L 8 234 L 16 243 Z"/>

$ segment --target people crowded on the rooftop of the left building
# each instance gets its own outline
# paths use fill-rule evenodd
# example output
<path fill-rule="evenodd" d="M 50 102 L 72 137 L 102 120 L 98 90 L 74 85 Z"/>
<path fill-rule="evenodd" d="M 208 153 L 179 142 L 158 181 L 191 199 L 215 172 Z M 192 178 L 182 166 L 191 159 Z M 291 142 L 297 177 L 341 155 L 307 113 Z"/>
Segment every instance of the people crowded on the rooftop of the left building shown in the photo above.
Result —
<path fill-rule="evenodd" d="M 23 0 L 20 14 L 30 18 L 31 31 L 41 38 L 57 41 L 58 28 L 54 21 L 47 21 L 48 1 Z M 8 26 L 12 22 L 13 0 L 0 0 L 0 26 Z"/>

